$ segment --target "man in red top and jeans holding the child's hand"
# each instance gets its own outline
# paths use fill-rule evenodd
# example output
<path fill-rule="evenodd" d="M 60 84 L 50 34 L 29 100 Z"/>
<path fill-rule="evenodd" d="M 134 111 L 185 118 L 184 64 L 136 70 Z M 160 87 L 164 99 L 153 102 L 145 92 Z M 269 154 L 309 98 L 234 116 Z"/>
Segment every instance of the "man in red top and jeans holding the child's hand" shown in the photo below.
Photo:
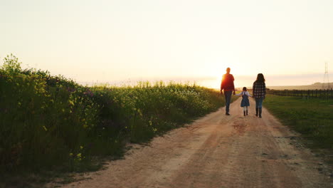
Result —
<path fill-rule="evenodd" d="M 233 75 L 230 73 L 230 68 L 226 69 L 226 74 L 222 77 L 221 82 L 221 95 L 223 95 L 222 90 L 224 90 L 224 98 L 226 98 L 226 115 L 229 114 L 229 106 L 231 101 L 231 95 L 235 94 L 235 85 L 233 85 Z"/>

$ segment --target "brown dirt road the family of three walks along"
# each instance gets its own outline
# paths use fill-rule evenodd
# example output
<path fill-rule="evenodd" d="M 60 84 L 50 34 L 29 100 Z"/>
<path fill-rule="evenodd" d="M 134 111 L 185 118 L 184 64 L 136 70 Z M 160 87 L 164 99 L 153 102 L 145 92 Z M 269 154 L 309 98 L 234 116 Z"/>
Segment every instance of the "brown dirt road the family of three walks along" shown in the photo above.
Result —
<path fill-rule="evenodd" d="M 333 187 L 297 135 L 265 109 L 255 117 L 250 103 L 246 117 L 238 99 L 230 116 L 221 108 L 148 146 L 133 145 L 125 160 L 65 187 Z"/>

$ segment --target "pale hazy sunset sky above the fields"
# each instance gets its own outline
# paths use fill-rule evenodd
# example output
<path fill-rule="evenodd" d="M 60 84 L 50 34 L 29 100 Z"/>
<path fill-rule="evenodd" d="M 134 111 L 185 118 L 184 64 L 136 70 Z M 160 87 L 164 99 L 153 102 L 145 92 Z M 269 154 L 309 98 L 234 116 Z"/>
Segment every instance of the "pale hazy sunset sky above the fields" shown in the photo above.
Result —
<path fill-rule="evenodd" d="M 333 80 L 332 0 L 0 0 L 0 58 L 80 83 Z M 1 62 L 2 63 L 2 62 Z"/>

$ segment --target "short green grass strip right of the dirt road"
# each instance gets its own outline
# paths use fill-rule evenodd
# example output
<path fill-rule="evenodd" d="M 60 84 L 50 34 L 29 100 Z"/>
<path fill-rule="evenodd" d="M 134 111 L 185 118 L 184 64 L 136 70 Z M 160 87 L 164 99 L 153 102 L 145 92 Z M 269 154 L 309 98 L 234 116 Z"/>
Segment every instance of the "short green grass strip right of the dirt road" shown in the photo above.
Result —
<path fill-rule="evenodd" d="M 268 95 L 263 105 L 284 125 L 310 140 L 310 147 L 333 149 L 333 100 Z"/>

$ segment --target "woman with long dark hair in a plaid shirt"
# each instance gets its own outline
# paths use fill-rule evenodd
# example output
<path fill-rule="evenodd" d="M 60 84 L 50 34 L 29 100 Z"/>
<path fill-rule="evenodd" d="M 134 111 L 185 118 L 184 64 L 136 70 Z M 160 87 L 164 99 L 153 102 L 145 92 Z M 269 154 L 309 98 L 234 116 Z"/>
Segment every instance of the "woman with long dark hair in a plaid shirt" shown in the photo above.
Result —
<path fill-rule="evenodd" d="M 261 117 L 263 111 L 263 100 L 266 95 L 265 78 L 262 73 L 257 75 L 257 80 L 253 83 L 253 98 L 255 98 L 255 116 Z"/>

